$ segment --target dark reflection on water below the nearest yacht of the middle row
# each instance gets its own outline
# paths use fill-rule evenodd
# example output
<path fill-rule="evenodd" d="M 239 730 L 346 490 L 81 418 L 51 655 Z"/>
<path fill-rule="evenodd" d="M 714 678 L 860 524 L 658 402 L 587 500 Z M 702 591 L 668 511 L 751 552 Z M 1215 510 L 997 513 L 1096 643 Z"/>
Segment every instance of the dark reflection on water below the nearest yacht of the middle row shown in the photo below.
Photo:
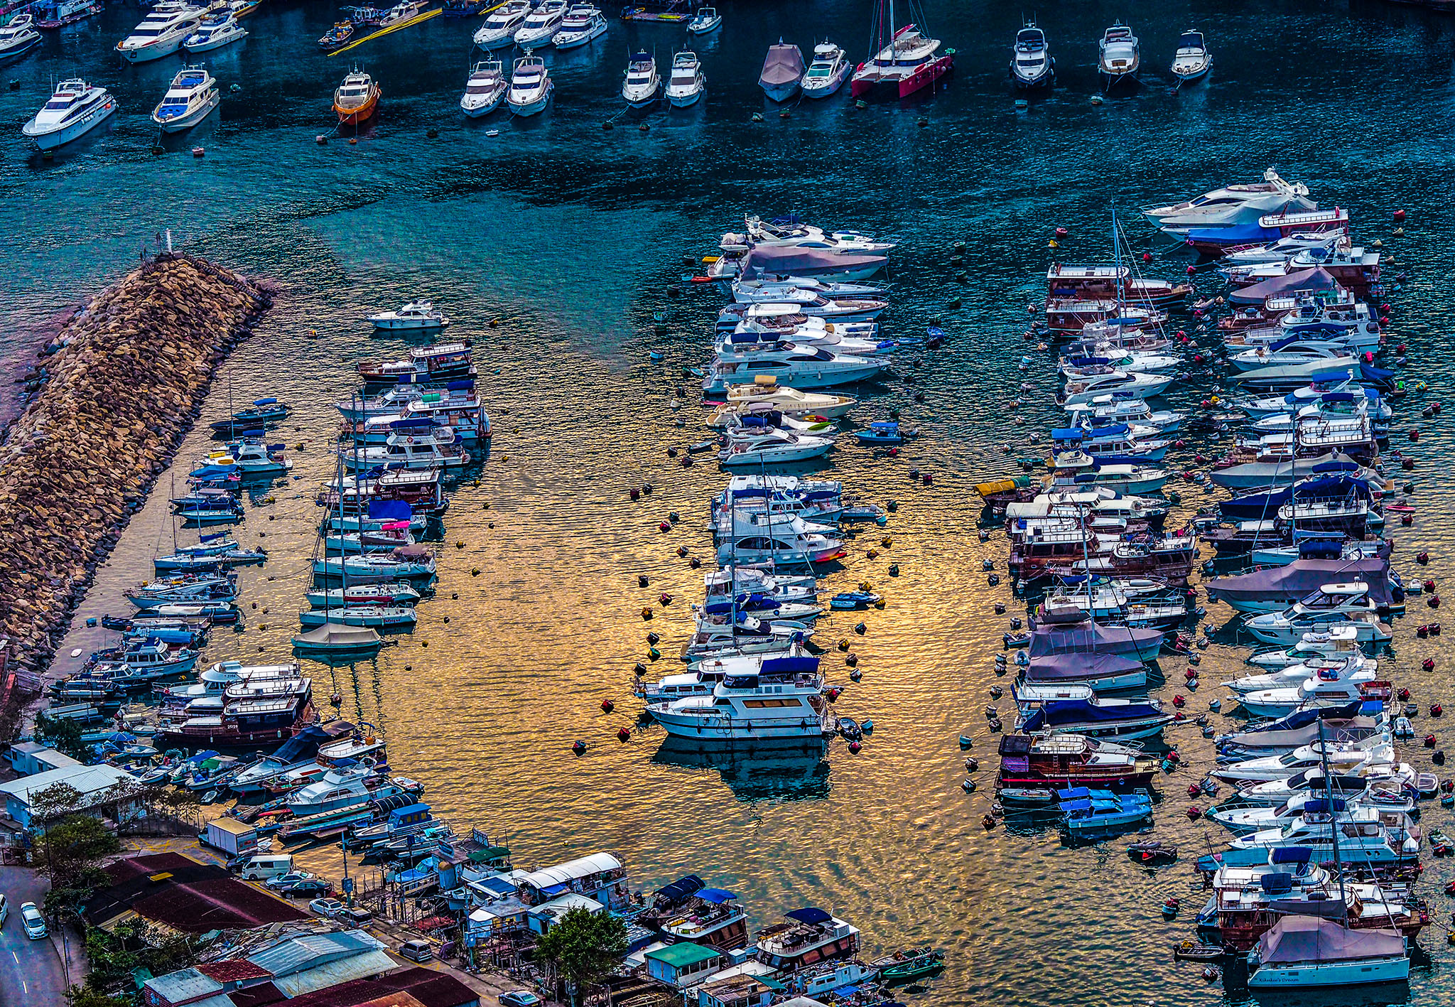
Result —
<path fill-rule="evenodd" d="M 658 765 L 717 770 L 738 800 L 828 797 L 828 742 L 771 742 L 749 745 L 695 741 L 669 735 L 656 749 Z"/>

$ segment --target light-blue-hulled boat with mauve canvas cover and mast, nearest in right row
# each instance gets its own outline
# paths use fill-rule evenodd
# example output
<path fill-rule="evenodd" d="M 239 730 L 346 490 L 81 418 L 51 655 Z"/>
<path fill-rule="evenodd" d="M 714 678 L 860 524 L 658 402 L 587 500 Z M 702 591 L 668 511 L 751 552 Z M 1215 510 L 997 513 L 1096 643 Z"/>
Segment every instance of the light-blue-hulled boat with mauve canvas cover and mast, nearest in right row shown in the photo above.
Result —
<path fill-rule="evenodd" d="M 1320 751 L 1324 757 L 1324 786 L 1334 793 L 1328 771 L 1328 747 L 1324 725 L 1318 725 Z M 1333 806 L 1333 803 L 1330 803 Z M 1248 952 L 1248 988 L 1311 988 L 1401 982 L 1410 978 L 1410 956 L 1398 930 L 1350 930 L 1349 902 L 1344 898 L 1343 861 L 1339 857 L 1339 828 L 1330 828 L 1334 847 L 1334 875 L 1340 899 L 1327 915 L 1280 917 L 1259 937 Z"/>

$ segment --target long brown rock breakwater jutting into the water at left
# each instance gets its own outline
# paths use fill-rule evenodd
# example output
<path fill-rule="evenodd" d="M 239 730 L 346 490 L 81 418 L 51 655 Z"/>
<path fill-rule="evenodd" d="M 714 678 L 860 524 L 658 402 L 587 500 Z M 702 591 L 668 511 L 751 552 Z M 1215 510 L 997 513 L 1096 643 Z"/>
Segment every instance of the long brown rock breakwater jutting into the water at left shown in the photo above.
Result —
<path fill-rule="evenodd" d="M 80 309 L 0 447 L 0 636 L 44 671 L 196 419 L 212 373 L 272 303 L 266 284 L 159 256 Z M 9 720 L 9 717 L 0 719 Z"/>

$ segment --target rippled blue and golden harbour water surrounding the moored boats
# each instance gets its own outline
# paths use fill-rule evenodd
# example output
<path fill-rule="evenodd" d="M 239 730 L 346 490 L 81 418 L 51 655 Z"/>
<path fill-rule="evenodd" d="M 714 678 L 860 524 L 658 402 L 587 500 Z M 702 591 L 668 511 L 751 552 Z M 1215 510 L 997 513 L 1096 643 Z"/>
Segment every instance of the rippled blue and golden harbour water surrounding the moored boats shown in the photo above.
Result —
<path fill-rule="evenodd" d="M 978 541 L 972 486 L 1030 454 L 1027 431 L 1055 418 L 1043 355 L 1027 375 L 1016 370 L 1027 352 L 1024 306 L 1043 295 L 1049 256 L 1106 253 L 1115 204 L 1138 252 L 1154 253 L 1149 272 L 1174 278 L 1189 259 L 1129 211 L 1253 179 L 1269 163 L 1307 182 L 1321 205 L 1350 207 L 1363 240 L 1391 243 L 1392 272 L 1407 272 L 1392 298 L 1395 338 L 1411 348 L 1407 373 L 1429 380 L 1427 399 L 1448 396 L 1455 22 L 1308 0 L 1276 10 L 1136 0 L 1039 12 L 1059 84 L 1017 111 L 1005 79 L 1017 10 L 931 4 L 928 28 L 957 49 L 943 93 L 866 111 L 847 97 L 802 103 L 780 118 L 755 86 L 767 45 L 783 35 L 808 49 L 828 36 L 861 58 L 869 4 L 723 4 L 725 28 L 700 44 L 703 105 L 633 114 L 605 131 L 621 111 L 627 51 L 655 49 L 665 64 L 681 29 L 613 19 L 595 45 L 546 57 L 557 81 L 547 114 L 469 122 L 457 100 L 473 19 L 436 17 L 327 58 L 314 39 L 335 9 L 274 3 L 247 19 L 243 44 L 208 54 L 224 90 L 242 90 L 163 154 L 150 150 L 147 115 L 180 58 L 140 67 L 115 60 L 111 47 L 140 19 L 134 7 L 48 35 L 38 55 L 3 70 L 19 86 L 0 92 L 0 122 L 12 127 L 0 131 L 0 226 L 10 236 L 0 290 L 12 316 L 0 352 L 28 355 L 48 320 L 135 262 L 163 228 L 191 252 L 285 287 L 220 371 L 199 425 L 224 416 L 230 396 L 242 405 L 276 394 L 295 406 L 278 439 L 304 444 L 292 453 L 294 479 L 274 502 L 249 506 L 240 530 L 244 544 L 271 552 L 265 566 L 242 573 L 243 598 L 258 610 L 247 611 L 244 633 L 215 633 L 207 659 L 288 652 L 319 518 L 313 490 L 333 469 L 332 403 L 354 390 L 356 361 L 407 345 L 371 336 L 362 316 L 432 295 L 454 319 L 451 336 L 474 341 L 496 431 L 492 457 L 479 485 L 471 474 L 454 493 L 436 595 L 420 607 L 419 629 L 377 662 L 320 668 L 316 680 L 320 694 L 345 696 L 345 716 L 387 732 L 391 764 L 428 784 L 436 813 L 506 834 L 521 864 L 611 850 L 637 883 L 693 872 L 730 888 L 758 926 L 819 904 L 863 927 L 872 950 L 944 947 L 950 968 L 921 1003 L 1007 992 L 1061 1003 L 1072 991 L 1096 1004 L 1244 1001 L 1205 984 L 1199 968 L 1171 962 L 1190 912 L 1167 923 L 1160 905 L 1168 895 L 1197 901 L 1187 891 L 1190 857 L 1149 873 L 1115 843 L 1069 850 L 1052 829 L 981 828 L 991 777 L 981 773 L 981 790 L 962 792 L 956 736 L 976 735 L 970 754 L 992 767 L 982 710 L 1005 621 L 991 605 L 1013 600 L 1005 585 L 988 588 L 981 570 L 992 559 L 1004 573 L 1005 543 L 1001 534 Z M 1096 39 L 1117 17 L 1142 39 L 1148 81 L 1093 106 Z M 1206 83 L 1173 93 L 1164 64 L 1190 25 L 1208 33 L 1216 67 Z M 319 146 L 314 137 L 332 130 L 332 89 L 351 63 L 381 81 L 383 111 L 356 146 L 342 137 Z M 111 87 L 122 114 L 42 162 L 25 148 L 19 124 L 52 77 L 76 73 Z M 765 121 L 752 122 L 754 112 Z M 439 135 L 428 138 L 429 128 Z M 490 128 L 499 135 L 487 137 Z M 205 157 L 194 159 L 192 146 Z M 1398 239 L 1390 237 L 1394 208 L 1410 214 Z M 714 466 L 682 469 L 665 454 L 703 437 L 693 396 L 674 409 L 674 391 L 681 367 L 701 362 L 720 304 L 707 287 L 679 297 L 666 288 L 691 272 L 682 256 L 713 250 L 744 211 L 787 210 L 899 240 L 886 335 L 938 319 L 950 336 L 922 367 L 896 365 L 914 384 L 870 390 L 858 413 L 902 409 L 924 429 L 912 450 L 889 461 L 842 445 L 822 467 L 901 504 L 886 530 L 892 546 L 870 560 L 867 549 L 886 533 L 860 534 L 828 581 L 832 592 L 867 579 L 889 605 L 828 617 L 818 637 L 854 639 L 864 675 L 840 706 L 873 717 L 876 731 L 858 755 L 835 744 L 822 760 L 704 760 L 662 751 L 652 729 L 618 744 L 615 731 L 636 725 L 631 665 L 645 659 L 645 634 L 662 634 L 661 665 L 685 637 L 700 573 L 674 550 L 709 554 L 706 501 L 725 479 Z M 1071 237 L 1053 253 L 1046 240 L 1058 224 Z M 969 246 L 963 284 L 947 263 L 957 240 Z M 952 298 L 963 307 L 949 309 Z M 658 311 L 666 335 L 653 332 Z M 653 349 L 661 364 L 649 362 Z M 1018 426 L 1008 400 L 1023 380 L 1037 390 Z M 1179 386 L 1171 402 L 1195 405 L 1209 390 Z M 924 402 L 914 402 L 921 391 Z M 1398 441 L 1416 416 L 1401 409 Z M 1411 569 L 1410 557 L 1429 550 L 1433 560 L 1420 572 L 1438 581 L 1455 559 L 1455 522 L 1440 504 L 1452 486 L 1440 464 L 1451 439 L 1439 425 L 1414 447 L 1416 524 L 1395 531 L 1397 566 Z M 207 447 L 204 432 L 188 439 L 179 471 Z M 1174 453 L 1171 467 L 1190 467 L 1195 447 Z M 934 486 L 915 487 L 908 466 L 933 471 Z M 630 502 L 629 487 L 645 482 L 653 493 Z M 1197 492 L 1184 489 L 1190 504 Z M 682 521 L 663 534 L 658 522 L 669 511 Z M 159 495 L 97 573 L 81 614 L 124 611 L 121 591 L 150 572 L 157 549 L 169 552 L 172 536 Z M 902 570 L 893 579 L 890 562 Z M 637 586 L 640 573 L 650 588 Z M 656 601 L 663 591 L 674 597 L 666 607 Z M 639 614 L 646 604 L 658 610 L 650 624 Z M 1213 608 L 1209 618 L 1228 616 Z M 850 629 L 860 618 L 869 624 L 861 639 Z M 1390 668 L 1422 703 L 1455 698 L 1439 640 L 1414 639 L 1419 618 L 1411 611 L 1398 624 Z M 79 627 L 61 652 L 102 639 Z M 1243 653 L 1211 648 L 1205 680 L 1229 677 L 1222 672 L 1241 668 Z M 1417 671 L 1426 656 L 1435 672 Z M 826 666 L 837 659 L 831 652 Z M 1180 680 L 1179 665 L 1163 668 Z M 834 677 L 847 684 L 847 669 Z M 614 713 L 601 712 L 604 698 L 615 701 Z M 589 745 L 579 760 L 570 754 L 578 738 Z M 1211 763 L 1193 729 L 1170 739 L 1193 765 Z M 1423 751 L 1407 758 L 1422 768 L 1429 761 Z M 1157 837 L 1189 854 L 1224 840 L 1221 828 L 1181 813 L 1195 779 L 1167 777 L 1157 813 Z M 1427 825 L 1448 821 L 1446 811 L 1426 811 Z M 1422 888 L 1443 918 L 1438 889 L 1455 872 L 1443 860 L 1427 864 Z M 1433 960 L 1416 968 L 1407 992 L 1356 1001 L 1455 1003 L 1442 981 L 1452 955 L 1440 930 L 1422 939 Z"/>

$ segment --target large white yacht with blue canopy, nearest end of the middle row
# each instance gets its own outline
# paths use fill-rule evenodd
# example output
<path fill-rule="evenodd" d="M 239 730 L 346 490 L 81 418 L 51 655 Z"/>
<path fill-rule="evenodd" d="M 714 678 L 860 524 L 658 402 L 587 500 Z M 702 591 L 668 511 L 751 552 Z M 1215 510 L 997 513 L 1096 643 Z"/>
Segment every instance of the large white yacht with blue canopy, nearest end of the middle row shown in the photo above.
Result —
<path fill-rule="evenodd" d="M 647 713 L 669 735 L 698 741 L 822 739 L 834 733 L 834 712 L 816 672 L 726 675 L 711 696 L 652 703 Z"/>

